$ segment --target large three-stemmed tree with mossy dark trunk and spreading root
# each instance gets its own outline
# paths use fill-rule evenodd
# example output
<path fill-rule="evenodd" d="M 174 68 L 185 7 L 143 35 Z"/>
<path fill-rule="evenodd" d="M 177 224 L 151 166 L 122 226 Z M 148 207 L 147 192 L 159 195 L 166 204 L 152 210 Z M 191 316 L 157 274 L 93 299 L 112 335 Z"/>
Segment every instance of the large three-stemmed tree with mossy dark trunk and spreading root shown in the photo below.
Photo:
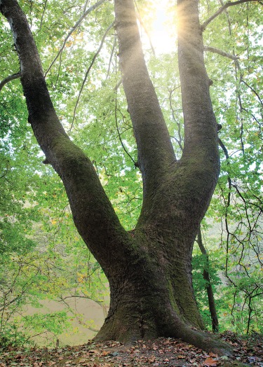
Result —
<path fill-rule="evenodd" d="M 203 329 L 203 321 L 191 284 L 194 240 L 220 172 L 202 32 L 234 3 L 227 4 L 201 27 L 196 0 L 178 1 L 184 148 L 177 160 L 144 62 L 133 0 L 114 2 L 122 83 L 143 182 L 140 217 L 135 228 L 126 231 L 93 163 L 69 139 L 55 113 L 25 15 L 17 1 L 0 1 L 20 59 L 29 123 L 45 162 L 65 185 L 76 228 L 109 280 L 109 314 L 97 340 L 174 336 L 206 350 L 229 349 L 196 330 Z"/>

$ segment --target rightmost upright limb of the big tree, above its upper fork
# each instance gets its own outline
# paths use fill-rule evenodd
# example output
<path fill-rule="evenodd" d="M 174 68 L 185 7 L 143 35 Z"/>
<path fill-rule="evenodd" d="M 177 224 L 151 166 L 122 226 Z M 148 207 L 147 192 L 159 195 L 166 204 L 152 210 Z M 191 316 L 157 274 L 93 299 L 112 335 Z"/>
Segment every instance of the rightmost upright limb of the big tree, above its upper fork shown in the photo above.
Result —
<path fill-rule="evenodd" d="M 205 173 L 212 195 L 219 172 L 217 123 L 210 99 L 210 80 L 203 59 L 203 39 L 195 0 L 178 0 L 178 61 L 184 113 L 182 162 Z M 208 183 L 208 181 L 210 183 Z M 194 189 L 194 187 L 193 187 Z"/>

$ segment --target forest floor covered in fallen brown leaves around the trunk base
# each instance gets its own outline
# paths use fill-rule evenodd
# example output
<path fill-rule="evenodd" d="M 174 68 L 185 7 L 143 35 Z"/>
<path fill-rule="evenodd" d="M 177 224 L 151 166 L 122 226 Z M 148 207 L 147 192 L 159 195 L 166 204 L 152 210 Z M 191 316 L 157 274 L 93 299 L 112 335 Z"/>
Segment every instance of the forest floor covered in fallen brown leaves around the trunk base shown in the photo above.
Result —
<path fill-rule="evenodd" d="M 55 349 L 8 347 L 1 352 L 0 346 L 0 367 L 263 367 L 262 335 L 238 338 L 234 333 L 228 332 L 222 334 L 221 338 L 234 347 L 232 359 L 205 353 L 173 338 L 159 338 L 148 342 L 139 340 L 133 346 L 121 345 L 119 342 L 98 344 L 91 340 L 85 345 Z"/>

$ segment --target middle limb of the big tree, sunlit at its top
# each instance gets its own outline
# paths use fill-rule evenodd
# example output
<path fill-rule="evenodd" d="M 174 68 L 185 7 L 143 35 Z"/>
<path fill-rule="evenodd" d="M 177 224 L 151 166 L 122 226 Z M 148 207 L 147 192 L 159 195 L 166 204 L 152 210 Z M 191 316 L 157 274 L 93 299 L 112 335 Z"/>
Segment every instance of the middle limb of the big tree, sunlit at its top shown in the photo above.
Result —
<path fill-rule="evenodd" d="M 137 141 L 146 200 L 161 184 L 163 172 L 175 160 L 175 154 L 144 62 L 133 0 L 115 0 L 115 15 L 123 88 Z"/>

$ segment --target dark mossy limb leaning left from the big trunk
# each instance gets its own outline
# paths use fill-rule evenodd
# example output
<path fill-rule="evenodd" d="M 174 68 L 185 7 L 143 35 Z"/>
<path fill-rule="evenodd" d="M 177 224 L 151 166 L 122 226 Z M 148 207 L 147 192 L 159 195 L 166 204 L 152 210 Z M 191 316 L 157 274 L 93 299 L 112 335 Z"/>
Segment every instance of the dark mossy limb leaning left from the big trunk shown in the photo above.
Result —
<path fill-rule="evenodd" d="M 16 0 L 1 0 L 0 11 L 11 25 L 21 66 L 21 83 L 29 123 L 46 158 L 60 175 L 69 198 L 76 228 L 106 274 L 112 262 L 120 266 L 128 234 L 119 223 L 92 163 L 67 137 L 46 87 L 32 33 Z M 118 262 L 119 256 L 121 260 Z M 124 265 L 123 265 L 124 266 Z M 118 272 L 118 266 L 112 270 Z"/>

